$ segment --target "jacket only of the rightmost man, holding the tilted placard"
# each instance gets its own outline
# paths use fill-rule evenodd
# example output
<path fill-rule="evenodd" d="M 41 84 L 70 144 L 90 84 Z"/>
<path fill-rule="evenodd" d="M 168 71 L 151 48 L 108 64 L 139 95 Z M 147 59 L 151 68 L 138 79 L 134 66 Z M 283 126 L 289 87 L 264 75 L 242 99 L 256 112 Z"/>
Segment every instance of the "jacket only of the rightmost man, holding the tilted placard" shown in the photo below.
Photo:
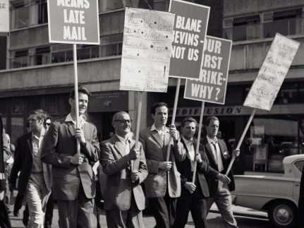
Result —
<path fill-rule="evenodd" d="M 229 155 L 229 152 L 227 150 L 227 146 L 226 146 L 226 143 L 224 142 L 224 140 L 217 138 L 217 142 L 219 143 L 219 148 L 221 150 L 221 160 L 223 161 L 224 172 L 226 173 L 226 170 L 229 167 L 230 155 Z M 213 169 L 219 171 L 219 169 L 217 167 L 217 163 L 215 162 L 215 159 L 214 159 L 212 148 L 210 147 L 210 145 L 208 143 L 207 136 L 205 136 L 203 138 L 202 145 L 204 145 L 204 149 L 205 149 L 205 152 L 207 155 L 207 160 L 209 162 L 209 166 L 212 167 Z M 234 191 L 236 186 L 234 184 L 232 171 L 229 172 L 228 176 L 231 179 L 231 182 L 228 184 L 229 191 Z M 209 186 L 210 197 L 214 197 L 218 190 L 219 181 L 217 179 L 212 179 L 212 178 L 209 178 L 209 176 L 207 176 L 207 182 L 208 182 L 208 186 Z"/>

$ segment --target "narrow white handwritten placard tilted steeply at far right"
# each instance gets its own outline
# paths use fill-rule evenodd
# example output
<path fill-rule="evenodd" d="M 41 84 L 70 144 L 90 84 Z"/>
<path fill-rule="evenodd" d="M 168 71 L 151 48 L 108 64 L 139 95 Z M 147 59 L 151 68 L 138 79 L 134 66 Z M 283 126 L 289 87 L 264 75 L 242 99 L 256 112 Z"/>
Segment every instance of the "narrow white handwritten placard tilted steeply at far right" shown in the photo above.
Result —
<path fill-rule="evenodd" d="M 270 111 L 300 43 L 276 33 L 244 106 Z"/>

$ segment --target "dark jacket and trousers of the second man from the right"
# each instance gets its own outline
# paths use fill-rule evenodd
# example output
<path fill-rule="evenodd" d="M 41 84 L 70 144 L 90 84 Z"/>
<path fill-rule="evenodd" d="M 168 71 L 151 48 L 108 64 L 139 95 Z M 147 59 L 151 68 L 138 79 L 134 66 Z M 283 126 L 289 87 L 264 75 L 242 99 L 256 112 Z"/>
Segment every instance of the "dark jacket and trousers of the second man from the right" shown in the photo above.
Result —
<path fill-rule="evenodd" d="M 188 222 L 188 214 L 191 211 L 195 227 L 207 227 L 205 222 L 207 216 L 206 198 L 209 197 L 209 189 L 205 176 L 210 179 L 216 179 L 219 172 L 215 171 L 207 162 L 207 157 L 200 145 L 199 152 L 202 157 L 202 163 L 197 162 L 197 171 L 195 175 L 195 191 L 190 193 L 184 185 L 186 181 L 192 182 L 193 171 L 191 171 L 190 155 L 187 145 L 183 138 L 181 138 L 183 148 L 186 150 L 186 159 L 183 162 L 176 162 L 178 172 L 181 173 L 181 197 L 177 200 L 176 220 L 174 228 L 185 227 Z M 196 149 L 197 140 L 193 140 L 193 148 Z"/>

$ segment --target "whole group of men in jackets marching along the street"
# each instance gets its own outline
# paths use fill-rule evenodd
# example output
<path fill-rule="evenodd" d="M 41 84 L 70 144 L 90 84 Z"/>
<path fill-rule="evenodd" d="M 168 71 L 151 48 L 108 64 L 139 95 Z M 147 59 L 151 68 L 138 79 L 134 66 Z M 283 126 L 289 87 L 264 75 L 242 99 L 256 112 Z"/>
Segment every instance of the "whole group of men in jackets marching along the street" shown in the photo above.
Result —
<path fill-rule="evenodd" d="M 206 136 L 199 143 L 194 138 L 195 119 L 183 119 L 180 134 L 176 126 L 166 127 L 168 107 L 158 102 L 151 108 L 154 124 L 140 131 L 138 144 L 127 112 L 114 114 L 114 136 L 99 143 L 96 126 L 85 118 L 89 90 L 80 87 L 78 101 L 74 97 L 72 90 L 70 114 L 52 123 L 42 109 L 32 111 L 30 132 L 17 140 L 9 188 L 16 187 L 20 172 L 14 214 L 25 200 L 28 227 L 47 227 L 44 214 L 48 200 L 53 201 L 50 196 L 58 203 L 59 227 L 99 226 L 99 199 L 95 202 L 100 195 L 96 188 L 99 163 L 107 175 L 106 183 L 100 183 L 105 186 L 107 227 L 144 227 L 142 210 L 147 202 L 158 228 L 185 227 L 189 212 L 195 227 L 207 227 L 206 217 L 214 202 L 225 227 L 237 227 L 231 208 L 233 175 L 225 175 L 231 154 L 224 140 L 217 138 L 217 117 L 207 117 Z M 195 152 L 197 144 L 199 152 Z M 239 150 L 233 150 L 233 155 L 237 157 Z M 45 220 L 48 216 L 49 212 Z"/>

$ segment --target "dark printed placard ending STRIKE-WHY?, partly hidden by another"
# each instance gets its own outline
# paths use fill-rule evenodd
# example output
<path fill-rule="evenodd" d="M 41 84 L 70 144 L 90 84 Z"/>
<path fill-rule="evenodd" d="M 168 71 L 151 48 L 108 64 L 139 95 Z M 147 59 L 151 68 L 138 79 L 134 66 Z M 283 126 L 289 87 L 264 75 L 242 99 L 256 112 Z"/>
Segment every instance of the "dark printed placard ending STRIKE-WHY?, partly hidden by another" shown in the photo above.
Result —
<path fill-rule="evenodd" d="M 231 40 L 206 36 L 199 80 L 186 80 L 184 97 L 225 104 Z"/>

